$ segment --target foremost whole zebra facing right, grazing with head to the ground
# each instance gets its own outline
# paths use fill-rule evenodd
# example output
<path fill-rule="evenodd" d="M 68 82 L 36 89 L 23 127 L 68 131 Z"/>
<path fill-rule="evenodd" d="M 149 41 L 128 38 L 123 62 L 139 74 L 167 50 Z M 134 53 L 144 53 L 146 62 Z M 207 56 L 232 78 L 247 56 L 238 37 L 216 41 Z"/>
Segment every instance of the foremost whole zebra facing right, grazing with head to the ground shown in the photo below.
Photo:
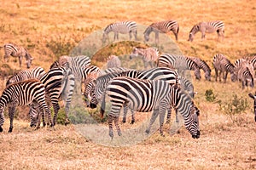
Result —
<path fill-rule="evenodd" d="M 130 77 L 113 78 L 109 82 L 106 90 L 106 94 L 111 102 L 111 109 L 108 113 L 109 136 L 113 139 L 113 122 L 119 136 L 121 135 L 119 111 L 124 105 L 128 105 L 133 111 L 153 111 L 150 123 L 145 131 L 146 133 L 150 132 L 150 128 L 156 117 L 160 115 L 160 134 L 163 135 L 162 127 L 166 110 L 173 104 L 183 115 L 185 126 L 189 130 L 189 133 L 191 133 L 194 139 L 198 139 L 200 137 L 198 123 L 199 110 L 191 100 L 190 103 L 186 103 L 189 100 L 185 100 L 186 98 L 184 99 L 182 93 L 177 92 L 179 91 L 173 90 L 168 82 L 162 80 L 141 80 Z M 175 97 L 178 98 L 176 99 Z M 182 101 L 184 102 L 177 101 L 180 99 L 183 99 Z"/>

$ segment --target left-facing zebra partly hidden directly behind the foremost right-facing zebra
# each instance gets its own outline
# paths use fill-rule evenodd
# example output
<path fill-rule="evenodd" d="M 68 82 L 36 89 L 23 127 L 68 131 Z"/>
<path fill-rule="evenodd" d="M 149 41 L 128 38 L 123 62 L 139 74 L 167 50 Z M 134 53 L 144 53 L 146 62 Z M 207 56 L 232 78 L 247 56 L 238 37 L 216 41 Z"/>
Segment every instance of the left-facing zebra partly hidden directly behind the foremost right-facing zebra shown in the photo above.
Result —
<path fill-rule="evenodd" d="M 101 116 L 105 111 L 105 91 L 108 86 L 108 82 L 114 77 L 131 77 L 137 79 L 150 79 L 150 80 L 165 80 L 170 85 L 179 83 L 177 71 L 170 68 L 153 68 L 145 71 L 125 71 L 121 73 L 111 73 L 102 77 L 98 77 L 95 81 L 95 87 L 92 90 L 92 98 L 90 99 L 90 108 L 96 108 L 96 105 L 101 100 Z M 171 110 L 171 108 L 170 108 Z M 124 109 L 123 122 L 126 120 L 128 108 Z M 169 111 L 169 110 L 168 110 Z M 131 111 L 131 123 L 134 123 L 134 114 Z"/>

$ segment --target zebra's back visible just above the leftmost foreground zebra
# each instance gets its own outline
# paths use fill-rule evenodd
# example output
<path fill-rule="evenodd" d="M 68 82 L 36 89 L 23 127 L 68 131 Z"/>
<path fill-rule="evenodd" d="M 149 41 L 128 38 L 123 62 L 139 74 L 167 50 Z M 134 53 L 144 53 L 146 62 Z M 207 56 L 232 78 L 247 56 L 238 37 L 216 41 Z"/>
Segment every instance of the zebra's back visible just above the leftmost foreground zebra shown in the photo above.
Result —
<path fill-rule="evenodd" d="M 15 82 L 21 82 L 28 79 L 40 79 L 45 74 L 45 71 L 42 67 L 35 67 L 32 70 L 19 71 L 15 75 L 9 77 L 6 82 L 6 86 Z"/>

